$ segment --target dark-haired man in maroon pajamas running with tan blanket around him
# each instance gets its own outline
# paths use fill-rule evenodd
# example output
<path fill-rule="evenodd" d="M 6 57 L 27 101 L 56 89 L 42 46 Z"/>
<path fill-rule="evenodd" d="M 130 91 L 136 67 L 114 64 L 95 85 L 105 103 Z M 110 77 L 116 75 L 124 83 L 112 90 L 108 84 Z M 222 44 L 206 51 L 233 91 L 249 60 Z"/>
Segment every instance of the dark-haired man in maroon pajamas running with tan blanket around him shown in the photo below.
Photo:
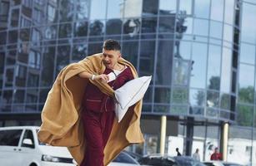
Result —
<path fill-rule="evenodd" d="M 115 119 L 113 90 L 137 77 L 120 51 L 118 41 L 107 40 L 103 53 L 64 67 L 44 105 L 38 138 L 67 146 L 80 166 L 107 165 L 129 144 L 143 142 L 141 100 L 119 124 Z M 109 74 L 116 77 L 109 80 Z"/>

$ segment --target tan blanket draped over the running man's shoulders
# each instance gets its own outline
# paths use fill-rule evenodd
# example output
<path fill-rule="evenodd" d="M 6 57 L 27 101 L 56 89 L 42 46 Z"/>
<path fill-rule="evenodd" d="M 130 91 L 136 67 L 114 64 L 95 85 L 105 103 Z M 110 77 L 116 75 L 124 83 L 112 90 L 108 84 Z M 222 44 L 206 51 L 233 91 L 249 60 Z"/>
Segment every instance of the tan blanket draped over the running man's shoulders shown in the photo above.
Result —
<path fill-rule="evenodd" d="M 129 66 L 134 78 L 138 77 L 134 66 L 120 58 L 118 63 Z M 42 125 L 38 132 L 40 141 L 53 146 L 66 146 L 78 165 L 83 161 L 86 149 L 84 139 L 83 121 L 80 117 L 82 99 L 86 93 L 88 79 L 78 76 L 87 71 L 100 75 L 105 71 L 103 54 L 88 56 L 78 63 L 70 64 L 58 74 L 52 89 L 48 93 L 47 100 L 42 111 Z M 114 96 L 113 89 L 101 81 L 91 81 L 97 85 L 103 93 Z M 131 107 L 132 108 L 132 107 Z M 108 143 L 104 149 L 104 165 L 109 164 L 129 144 L 138 144 L 144 141 L 140 129 L 140 116 L 142 100 L 139 100 L 133 110 L 128 110 L 123 120 L 118 123 L 114 120 Z"/>

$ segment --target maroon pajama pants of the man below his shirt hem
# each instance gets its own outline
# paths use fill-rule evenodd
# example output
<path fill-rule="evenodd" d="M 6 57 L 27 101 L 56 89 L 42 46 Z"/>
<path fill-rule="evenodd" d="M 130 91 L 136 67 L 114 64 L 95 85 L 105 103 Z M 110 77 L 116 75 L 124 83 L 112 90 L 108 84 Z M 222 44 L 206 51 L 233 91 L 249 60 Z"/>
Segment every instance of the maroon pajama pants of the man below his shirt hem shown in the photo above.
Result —
<path fill-rule="evenodd" d="M 111 133 L 114 117 L 114 111 L 83 110 L 86 152 L 80 166 L 103 166 L 103 151 Z"/>

